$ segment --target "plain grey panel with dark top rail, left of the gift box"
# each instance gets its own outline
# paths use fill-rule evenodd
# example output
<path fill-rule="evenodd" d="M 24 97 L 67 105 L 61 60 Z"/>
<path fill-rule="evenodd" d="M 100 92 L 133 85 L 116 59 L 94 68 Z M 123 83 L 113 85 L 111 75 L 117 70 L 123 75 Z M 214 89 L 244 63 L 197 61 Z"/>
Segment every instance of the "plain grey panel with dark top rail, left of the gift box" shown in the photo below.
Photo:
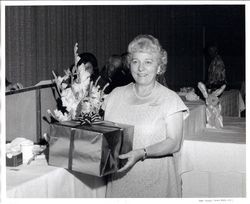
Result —
<path fill-rule="evenodd" d="M 54 84 L 8 91 L 6 98 L 6 141 L 24 137 L 38 143 L 48 132 L 47 110 L 57 107 L 57 90 Z"/>

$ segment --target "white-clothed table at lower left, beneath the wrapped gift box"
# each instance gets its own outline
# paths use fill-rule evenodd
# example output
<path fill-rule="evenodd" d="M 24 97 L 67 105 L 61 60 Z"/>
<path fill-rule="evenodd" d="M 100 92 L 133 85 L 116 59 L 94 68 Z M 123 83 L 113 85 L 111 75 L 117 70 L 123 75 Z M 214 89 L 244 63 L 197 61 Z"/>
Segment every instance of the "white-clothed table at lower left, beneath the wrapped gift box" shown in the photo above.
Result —
<path fill-rule="evenodd" d="M 7 167 L 8 198 L 91 198 L 105 197 L 101 178 L 48 166 L 45 157 L 30 165 Z"/>

